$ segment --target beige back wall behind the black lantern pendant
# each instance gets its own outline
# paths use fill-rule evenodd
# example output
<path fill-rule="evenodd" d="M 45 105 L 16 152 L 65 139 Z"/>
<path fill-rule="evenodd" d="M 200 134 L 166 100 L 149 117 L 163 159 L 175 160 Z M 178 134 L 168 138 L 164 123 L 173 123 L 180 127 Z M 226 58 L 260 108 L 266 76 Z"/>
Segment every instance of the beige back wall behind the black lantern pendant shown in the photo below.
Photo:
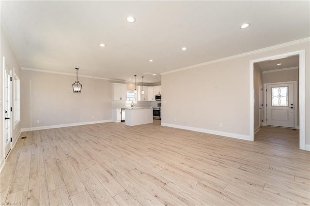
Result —
<path fill-rule="evenodd" d="M 22 130 L 111 121 L 111 81 L 78 77 L 82 91 L 75 94 L 75 80 L 76 76 L 22 69 Z"/>

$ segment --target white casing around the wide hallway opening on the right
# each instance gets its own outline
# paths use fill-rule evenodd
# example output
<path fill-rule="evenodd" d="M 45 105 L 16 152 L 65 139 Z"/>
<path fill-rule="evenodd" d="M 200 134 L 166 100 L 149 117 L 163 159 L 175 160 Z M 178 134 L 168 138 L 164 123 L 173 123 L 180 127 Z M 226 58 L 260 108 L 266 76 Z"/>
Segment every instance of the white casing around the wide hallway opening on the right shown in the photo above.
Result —
<path fill-rule="evenodd" d="M 252 59 L 249 61 L 249 140 L 254 141 L 254 63 L 271 59 L 286 58 L 299 55 L 299 148 L 306 150 L 306 111 L 305 111 L 305 49 L 279 54 L 275 56 L 264 57 L 260 59 Z M 309 148 L 308 148 L 309 149 Z"/>

